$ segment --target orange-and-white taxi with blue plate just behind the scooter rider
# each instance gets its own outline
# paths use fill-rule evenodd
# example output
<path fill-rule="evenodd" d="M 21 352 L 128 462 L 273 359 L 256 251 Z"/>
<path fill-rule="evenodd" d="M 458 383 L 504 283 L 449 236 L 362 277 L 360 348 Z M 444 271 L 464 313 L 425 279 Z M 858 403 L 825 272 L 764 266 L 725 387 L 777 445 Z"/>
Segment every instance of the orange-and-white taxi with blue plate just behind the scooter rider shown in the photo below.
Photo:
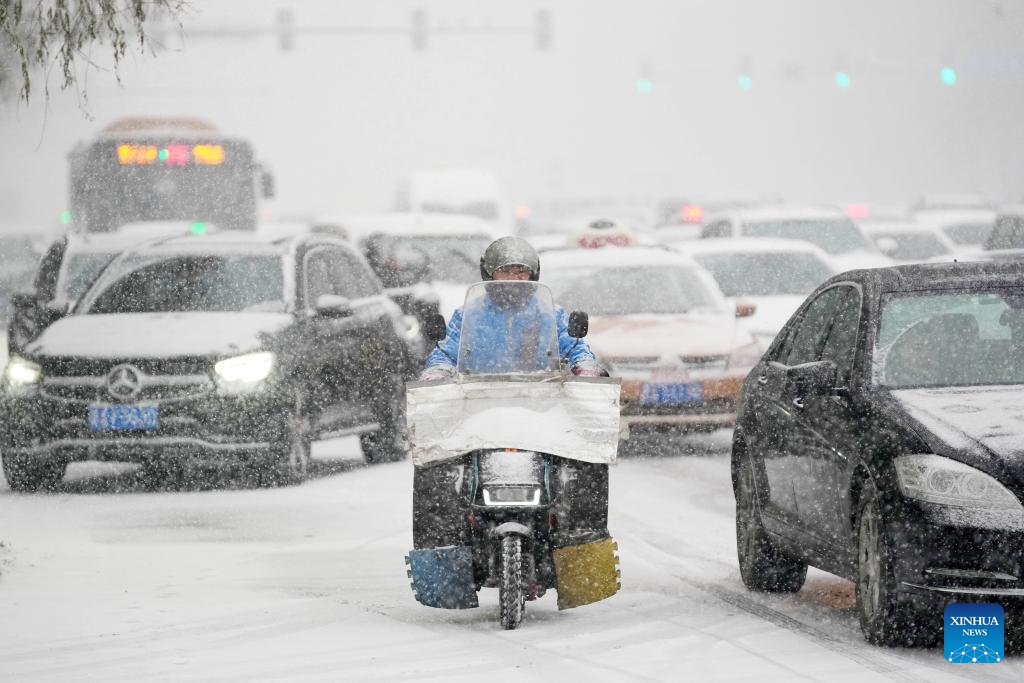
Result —
<path fill-rule="evenodd" d="M 551 251 L 541 282 L 566 311 L 590 314 L 587 341 L 622 378 L 628 425 L 710 430 L 735 422 L 761 348 L 692 258 L 660 247 Z"/>

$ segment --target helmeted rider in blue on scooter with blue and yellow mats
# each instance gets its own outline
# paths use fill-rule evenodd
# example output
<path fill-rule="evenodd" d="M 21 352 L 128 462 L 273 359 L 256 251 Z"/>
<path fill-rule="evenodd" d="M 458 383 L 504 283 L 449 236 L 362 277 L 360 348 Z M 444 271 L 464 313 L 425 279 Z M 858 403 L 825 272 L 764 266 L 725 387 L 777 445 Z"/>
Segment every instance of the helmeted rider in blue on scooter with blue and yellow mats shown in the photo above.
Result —
<path fill-rule="evenodd" d="M 556 588 L 560 609 L 618 589 L 607 530 L 608 465 L 618 439 L 618 381 L 537 282 L 517 238 L 492 244 L 484 282 L 431 336 L 437 347 L 407 390 L 413 445 L 410 575 L 426 605 L 477 605 L 500 589 L 501 621 Z M 570 371 L 570 372 L 569 372 Z"/>

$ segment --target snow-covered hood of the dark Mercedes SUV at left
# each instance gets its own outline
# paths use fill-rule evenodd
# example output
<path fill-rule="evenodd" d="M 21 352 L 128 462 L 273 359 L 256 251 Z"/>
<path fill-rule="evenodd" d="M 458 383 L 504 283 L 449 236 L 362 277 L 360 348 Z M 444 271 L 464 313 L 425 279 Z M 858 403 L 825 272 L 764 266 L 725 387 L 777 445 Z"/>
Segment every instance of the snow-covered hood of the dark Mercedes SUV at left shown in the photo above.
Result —
<path fill-rule="evenodd" d="M 112 313 L 70 315 L 26 351 L 93 358 L 225 355 L 260 347 L 261 333 L 292 323 L 289 313 Z"/>

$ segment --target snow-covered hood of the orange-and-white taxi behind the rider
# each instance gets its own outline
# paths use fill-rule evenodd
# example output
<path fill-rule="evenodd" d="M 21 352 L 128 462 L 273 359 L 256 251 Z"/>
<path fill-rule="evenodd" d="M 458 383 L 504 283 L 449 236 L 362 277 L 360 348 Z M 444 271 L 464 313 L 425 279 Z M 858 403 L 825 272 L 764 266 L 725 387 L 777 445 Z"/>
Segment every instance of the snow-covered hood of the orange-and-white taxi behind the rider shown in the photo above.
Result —
<path fill-rule="evenodd" d="M 727 355 L 752 343 L 728 314 L 595 315 L 587 342 L 599 357 Z"/>

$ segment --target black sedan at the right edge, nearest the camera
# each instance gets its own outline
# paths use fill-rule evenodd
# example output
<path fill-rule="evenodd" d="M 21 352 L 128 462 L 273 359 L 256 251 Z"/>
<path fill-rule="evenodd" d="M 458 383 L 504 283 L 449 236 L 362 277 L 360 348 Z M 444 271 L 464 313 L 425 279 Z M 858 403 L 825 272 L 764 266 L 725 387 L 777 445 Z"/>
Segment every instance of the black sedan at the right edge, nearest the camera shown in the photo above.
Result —
<path fill-rule="evenodd" d="M 932 642 L 952 602 L 1020 627 L 1024 263 L 821 285 L 743 384 L 732 481 L 749 588 L 849 579 L 877 644 Z"/>

